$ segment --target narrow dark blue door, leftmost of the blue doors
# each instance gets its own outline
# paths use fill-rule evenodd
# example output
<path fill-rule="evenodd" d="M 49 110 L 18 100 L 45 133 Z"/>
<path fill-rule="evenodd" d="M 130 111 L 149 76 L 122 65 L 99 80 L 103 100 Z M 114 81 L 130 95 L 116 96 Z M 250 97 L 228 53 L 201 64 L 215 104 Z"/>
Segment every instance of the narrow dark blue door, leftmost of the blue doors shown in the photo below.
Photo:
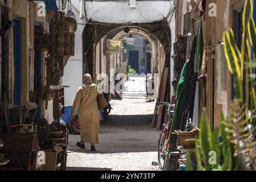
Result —
<path fill-rule="evenodd" d="M 21 104 L 22 92 L 22 43 L 21 19 L 14 17 L 14 104 Z"/>

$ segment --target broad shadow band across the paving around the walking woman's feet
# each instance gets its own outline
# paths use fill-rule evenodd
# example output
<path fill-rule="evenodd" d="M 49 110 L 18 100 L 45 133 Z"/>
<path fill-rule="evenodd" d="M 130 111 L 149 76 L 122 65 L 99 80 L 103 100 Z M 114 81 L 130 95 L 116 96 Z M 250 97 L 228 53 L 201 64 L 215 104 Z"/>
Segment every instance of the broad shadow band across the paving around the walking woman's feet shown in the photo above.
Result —
<path fill-rule="evenodd" d="M 96 154 L 152 152 L 157 151 L 160 131 L 151 128 L 152 115 L 109 115 L 100 123 L 99 140 Z M 70 136 L 69 150 L 72 152 L 92 154 L 90 144 L 80 149 L 76 142 L 79 135 Z"/>

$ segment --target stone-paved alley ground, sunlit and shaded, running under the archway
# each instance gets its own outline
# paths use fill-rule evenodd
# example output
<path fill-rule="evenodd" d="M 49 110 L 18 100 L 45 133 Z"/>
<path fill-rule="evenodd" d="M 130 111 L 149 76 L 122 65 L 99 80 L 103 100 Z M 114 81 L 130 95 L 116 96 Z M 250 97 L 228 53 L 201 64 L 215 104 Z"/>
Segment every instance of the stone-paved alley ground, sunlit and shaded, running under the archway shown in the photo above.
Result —
<path fill-rule="evenodd" d="M 136 78 L 138 79 L 138 78 Z M 96 152 L 90 144 L 82 150 L 75 146 L 79 135 L 70 135 L 67 170 L 152 171 L 157 161 L 160 131 L 151 129 L 155 103 L 145 99 L 112 100 L 108 120 L 101 121 L 100 143 Z"/>

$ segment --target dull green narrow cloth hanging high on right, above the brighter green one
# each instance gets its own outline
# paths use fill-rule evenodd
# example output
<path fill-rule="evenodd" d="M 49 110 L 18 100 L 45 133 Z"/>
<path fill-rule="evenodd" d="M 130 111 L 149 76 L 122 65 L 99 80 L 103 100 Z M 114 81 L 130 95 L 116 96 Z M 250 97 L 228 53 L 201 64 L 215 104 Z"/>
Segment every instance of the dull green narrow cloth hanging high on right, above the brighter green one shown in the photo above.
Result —
<path fill-rule="evenodd" d="M 204 36 L 202 32 L 202 19 L 200 18 L 198 22 L 198 32 L 197 32 L 197 45 L 196 52 L 194 55 L 194 72 L 198 73 L 202 67 L 202 57 L 204 53 Z"/>

